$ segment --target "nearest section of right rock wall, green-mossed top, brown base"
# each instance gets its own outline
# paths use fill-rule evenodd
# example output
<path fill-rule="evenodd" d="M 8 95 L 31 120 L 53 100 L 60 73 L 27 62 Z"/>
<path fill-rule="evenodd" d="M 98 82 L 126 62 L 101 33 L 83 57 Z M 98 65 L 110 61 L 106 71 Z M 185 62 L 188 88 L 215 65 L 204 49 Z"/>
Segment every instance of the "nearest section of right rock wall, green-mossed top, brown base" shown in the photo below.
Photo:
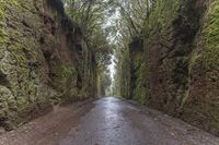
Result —
<path fill-rule="evenodd" d="M 203 50 L 199 56 L 201 57 L 196 61 L 196 64 L 205 68 L 205 70 L 198 68 L 199 71 L 205 71 L 201 75 L 205 78 L 204 95 L 200 95 L 201 106 L 200 104 L 198 106 L 199 112 L 205 117 L 201 116 L 199 124 L 206 130 L 219 134 L 219 1 L 210 0 L 207 4 L 208 9 L 200 34 Z"/>

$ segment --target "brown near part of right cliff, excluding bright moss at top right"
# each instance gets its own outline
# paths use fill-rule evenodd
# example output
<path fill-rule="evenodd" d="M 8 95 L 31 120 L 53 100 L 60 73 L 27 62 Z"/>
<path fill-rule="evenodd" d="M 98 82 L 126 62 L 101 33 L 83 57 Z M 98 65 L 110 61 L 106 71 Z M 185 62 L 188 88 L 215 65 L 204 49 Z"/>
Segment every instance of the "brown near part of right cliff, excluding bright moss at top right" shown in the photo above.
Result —
<path fill-rule="evenodd" d="M 157 28 L 160 34 L 150 35 L 145 47 L 149 58 L 148 105 L 218 134 L 218 47 L 210 48 L 206 32 L 216 3 L 175 1 L 174 15 Z"/>

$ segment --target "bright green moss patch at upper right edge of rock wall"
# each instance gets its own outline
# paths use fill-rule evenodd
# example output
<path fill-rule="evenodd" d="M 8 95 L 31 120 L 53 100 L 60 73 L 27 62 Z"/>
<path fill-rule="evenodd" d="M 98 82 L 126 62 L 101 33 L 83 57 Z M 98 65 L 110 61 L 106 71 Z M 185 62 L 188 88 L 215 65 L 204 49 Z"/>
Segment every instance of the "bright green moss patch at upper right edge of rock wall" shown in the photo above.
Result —
<path fill-rule="evenodd" d="M 207 51 L 205 61 L 207 65 L 219 65 L 219 0 L 211 2 L 209 19 L 205 29 Z"/>

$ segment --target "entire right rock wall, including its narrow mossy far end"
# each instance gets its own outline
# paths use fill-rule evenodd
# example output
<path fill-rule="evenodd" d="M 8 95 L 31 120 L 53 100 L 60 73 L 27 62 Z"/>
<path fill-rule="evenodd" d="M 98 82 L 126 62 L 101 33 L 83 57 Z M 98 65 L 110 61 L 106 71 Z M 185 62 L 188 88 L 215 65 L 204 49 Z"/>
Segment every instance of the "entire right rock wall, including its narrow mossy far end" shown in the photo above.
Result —
<path fill-rule="evenodd" d="M 218 5 L 218 0 L 158 0 L 143 31 L 143 46 L 130 46 L 143 52 L 130 55 L 129 85 L 138 93 L 130 98 L 217 135 Z"/>

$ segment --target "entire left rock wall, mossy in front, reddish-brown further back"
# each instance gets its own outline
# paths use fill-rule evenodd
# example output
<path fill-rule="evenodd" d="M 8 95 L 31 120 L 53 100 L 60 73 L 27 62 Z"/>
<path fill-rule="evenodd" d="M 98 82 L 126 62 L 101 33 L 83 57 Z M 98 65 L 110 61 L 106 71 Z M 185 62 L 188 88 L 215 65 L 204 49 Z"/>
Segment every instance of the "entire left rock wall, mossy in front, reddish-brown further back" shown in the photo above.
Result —
<path fill-rule="evenodd" d="M 95 90 L 95 61 L 78 32 L 59 0 L 0 0 L 0 126 L 95 95 L 88 94 Z"/>

